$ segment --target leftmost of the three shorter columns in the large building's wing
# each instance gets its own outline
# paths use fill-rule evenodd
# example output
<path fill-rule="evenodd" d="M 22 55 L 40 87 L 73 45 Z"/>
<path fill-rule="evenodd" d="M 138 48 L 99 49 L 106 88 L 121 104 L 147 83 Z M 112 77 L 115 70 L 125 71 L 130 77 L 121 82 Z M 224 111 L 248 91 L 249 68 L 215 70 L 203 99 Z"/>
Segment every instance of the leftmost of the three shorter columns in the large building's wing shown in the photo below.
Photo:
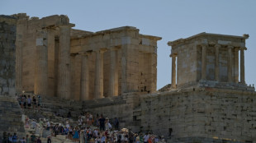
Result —
<path fill-rule="evenodd" d="M 81 53 L 82 65 L 81 65 L 81 92 L 80 100 L 88 100 L 89 97 L 89 61 L 88 56 L 90 53 Z"/>

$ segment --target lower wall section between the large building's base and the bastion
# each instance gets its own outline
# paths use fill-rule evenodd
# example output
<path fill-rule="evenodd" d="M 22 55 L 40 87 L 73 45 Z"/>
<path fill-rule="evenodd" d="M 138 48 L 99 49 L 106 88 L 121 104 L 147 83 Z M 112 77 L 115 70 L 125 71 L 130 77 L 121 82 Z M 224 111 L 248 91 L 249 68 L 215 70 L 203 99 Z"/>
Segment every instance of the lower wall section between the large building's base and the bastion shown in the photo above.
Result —
<path fill-rule="evenodd" d="M 118 118 L 120 127 L 140 131 L 140 122 L 135 122 L 133 114 L 140 108 L 140 93 L 130 93 L 126 95 L 107 97 L 104 99 L 94 99 L 83 102 L 83 112 L 93 113 L 94 116 L 102 114 L 109 118 L 111 122 Z"/>

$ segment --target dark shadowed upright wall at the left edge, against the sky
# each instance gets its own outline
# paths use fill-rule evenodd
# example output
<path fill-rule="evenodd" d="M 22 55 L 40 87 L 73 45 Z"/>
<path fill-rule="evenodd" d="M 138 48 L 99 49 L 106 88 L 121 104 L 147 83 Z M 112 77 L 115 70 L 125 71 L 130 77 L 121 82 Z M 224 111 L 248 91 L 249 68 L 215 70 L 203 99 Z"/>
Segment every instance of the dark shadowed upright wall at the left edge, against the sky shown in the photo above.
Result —
<path fill-rule="evenodd" d="M 15 95 L 15 41 L 14 16 L 0 16 L 0 95 Z"/>

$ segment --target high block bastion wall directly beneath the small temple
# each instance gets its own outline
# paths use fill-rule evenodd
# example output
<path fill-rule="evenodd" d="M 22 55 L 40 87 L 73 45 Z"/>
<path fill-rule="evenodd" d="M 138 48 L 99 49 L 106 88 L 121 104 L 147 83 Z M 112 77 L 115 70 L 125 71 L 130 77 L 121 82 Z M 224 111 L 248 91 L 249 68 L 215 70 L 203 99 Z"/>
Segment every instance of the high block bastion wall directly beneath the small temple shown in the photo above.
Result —
<path fill-rule="evenodd" d="M 256 141 L 254 91 L 201 88 L 145 95 L 141 99 L 143 131 L 172 141 Z"/>

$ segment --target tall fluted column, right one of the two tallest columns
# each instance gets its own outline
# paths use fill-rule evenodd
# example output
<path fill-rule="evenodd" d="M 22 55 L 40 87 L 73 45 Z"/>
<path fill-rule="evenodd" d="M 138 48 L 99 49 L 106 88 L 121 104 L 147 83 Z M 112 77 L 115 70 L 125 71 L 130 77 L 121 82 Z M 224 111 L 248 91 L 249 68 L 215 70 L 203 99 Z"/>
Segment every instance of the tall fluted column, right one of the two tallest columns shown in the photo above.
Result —
<path fill-rule="evenodd" d="M 70 25 L 59 25 L 58 97 L 70 98 Z"/>

